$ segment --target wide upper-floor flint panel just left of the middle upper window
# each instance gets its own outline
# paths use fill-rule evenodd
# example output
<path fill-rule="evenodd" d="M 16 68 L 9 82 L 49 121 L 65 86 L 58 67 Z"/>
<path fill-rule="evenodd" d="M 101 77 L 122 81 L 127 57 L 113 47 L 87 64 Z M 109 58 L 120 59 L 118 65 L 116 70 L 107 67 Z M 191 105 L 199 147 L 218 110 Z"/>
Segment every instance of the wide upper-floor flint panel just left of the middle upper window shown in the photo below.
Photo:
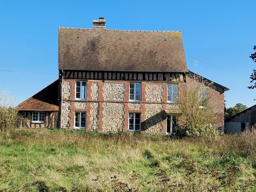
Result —
<path fill-rule="evenodd" d="M 103 85 L 103 98 L 105 101 L 123 101 L 124 84 L 105 83 Z"/>

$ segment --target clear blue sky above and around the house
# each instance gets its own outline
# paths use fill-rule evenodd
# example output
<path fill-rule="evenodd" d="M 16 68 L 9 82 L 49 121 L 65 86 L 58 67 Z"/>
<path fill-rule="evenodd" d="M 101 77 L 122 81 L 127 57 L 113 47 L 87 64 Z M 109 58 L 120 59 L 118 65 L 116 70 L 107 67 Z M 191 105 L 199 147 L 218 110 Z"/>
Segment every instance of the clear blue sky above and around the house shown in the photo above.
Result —
<path fill-rule="evenodd" d="M 92 28 L 105 17 L 108 29 L 181 30 L 189 69 L 229 87 L 227 107 L 250 107 L 255 12 L 255 1 L 234 0 L 1 1 L 0 69 L 58 74 L 58 27 Z M 57 78 L 0 71 L 0 90 L 20 103 Z"/>

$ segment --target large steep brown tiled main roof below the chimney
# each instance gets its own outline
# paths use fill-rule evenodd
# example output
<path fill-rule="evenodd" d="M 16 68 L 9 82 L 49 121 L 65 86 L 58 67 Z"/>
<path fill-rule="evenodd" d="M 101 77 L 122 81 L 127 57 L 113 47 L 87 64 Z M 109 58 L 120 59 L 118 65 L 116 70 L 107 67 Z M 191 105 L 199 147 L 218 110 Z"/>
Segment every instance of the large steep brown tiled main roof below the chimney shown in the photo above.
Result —
<path fill-rule="evenodd" d="M 188 71 L 181 31 L 61 27 L 59 69 Z"/>

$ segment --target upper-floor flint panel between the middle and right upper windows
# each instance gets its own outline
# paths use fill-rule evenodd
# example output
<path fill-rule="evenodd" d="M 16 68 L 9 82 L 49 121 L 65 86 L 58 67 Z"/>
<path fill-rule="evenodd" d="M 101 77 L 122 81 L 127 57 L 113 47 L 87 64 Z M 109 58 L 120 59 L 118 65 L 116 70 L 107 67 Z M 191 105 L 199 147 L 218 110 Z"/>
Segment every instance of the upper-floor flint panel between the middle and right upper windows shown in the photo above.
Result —
<path fill-rule="evenodd" d="M 146 101 L 162 102 L 163 100 L 163 85 L 147 84 L 146 85 Z"/>

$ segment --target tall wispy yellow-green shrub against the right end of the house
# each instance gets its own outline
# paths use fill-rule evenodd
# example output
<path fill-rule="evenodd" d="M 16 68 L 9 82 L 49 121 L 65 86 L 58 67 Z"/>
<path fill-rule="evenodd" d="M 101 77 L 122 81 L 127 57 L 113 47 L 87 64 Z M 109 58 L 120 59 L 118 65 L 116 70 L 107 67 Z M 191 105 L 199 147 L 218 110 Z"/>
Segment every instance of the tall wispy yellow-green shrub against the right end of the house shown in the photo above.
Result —
<path fill-rule="evenodd" d="M 213 126 L 218 123 L 218 114 L 215 110 L 218 101 L 214 98 L 213 90 L 210 89 L 211 83 L 204 81 L 203 78 L 194 77 L 188 78 L 186 94 L 180 97 L 180 108 L 182 117 L 179 121 L 183 123 L 183 130 L 190 130 L 186 135 L 197 135 L 201 127 L 203 129 L 214 129 Z M 195 131 L 191 133 L 191 131 Z"/>

